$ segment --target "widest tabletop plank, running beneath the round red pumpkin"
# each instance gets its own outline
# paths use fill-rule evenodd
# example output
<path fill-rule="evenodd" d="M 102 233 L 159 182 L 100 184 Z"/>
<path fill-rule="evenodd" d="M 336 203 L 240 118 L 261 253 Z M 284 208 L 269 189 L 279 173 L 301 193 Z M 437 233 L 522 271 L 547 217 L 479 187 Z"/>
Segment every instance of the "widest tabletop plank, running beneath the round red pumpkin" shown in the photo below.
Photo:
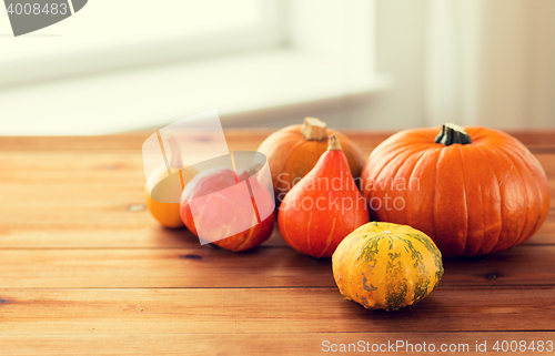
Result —
<path fill-rule="evenodd" d="M 555 208 L 555 155 L 538 154 Z M 0 246 L 191 247 L 185 231 L 167 231 L 144 211 L 137 152 L 1 152 Z M 555 215 L 531 243 L 555 243 Z M 283 245 L 281 238 L 274 238 Z"/>

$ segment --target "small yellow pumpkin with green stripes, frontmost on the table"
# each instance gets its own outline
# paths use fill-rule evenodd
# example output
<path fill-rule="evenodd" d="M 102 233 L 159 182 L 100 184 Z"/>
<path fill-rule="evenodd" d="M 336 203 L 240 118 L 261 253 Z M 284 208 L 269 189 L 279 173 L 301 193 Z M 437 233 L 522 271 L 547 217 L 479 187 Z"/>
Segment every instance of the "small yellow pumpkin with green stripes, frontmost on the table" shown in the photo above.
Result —
<path fill-rule="evenodd" d="M 390 223 L 367 223 L 349 234 L 332 266 L 345 298 L 387 312 L 422 301 L 443 276 L 434 242 L 411 226 Z"/>

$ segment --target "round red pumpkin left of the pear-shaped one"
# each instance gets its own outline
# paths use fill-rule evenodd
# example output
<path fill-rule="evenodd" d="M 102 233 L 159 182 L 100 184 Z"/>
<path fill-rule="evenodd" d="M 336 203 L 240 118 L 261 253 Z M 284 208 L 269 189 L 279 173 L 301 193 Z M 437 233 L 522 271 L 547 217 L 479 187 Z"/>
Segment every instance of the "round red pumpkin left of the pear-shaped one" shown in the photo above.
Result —
<path fill-rule="evenodd" d="M 185 226 L 196 236 L 199 236 L 198 227 L 201 227 L 206 233 L 206 241 L 234 252 L 254 248 L 266 241 L 272 234 L 275 217 L 273 196 L 262 184 L 250 180 L 252 190 L 250 199 L 249 191 L 234 189 L 236 184 L 249 179 L 246 171 L 238 173 L 235 175 L 235 172 L 230 169 L 213 169 L 199 173 L 185 186 L 181 199 L 181 218 Z M 253 196 L 256 196 L 256 201 Z M 202 211 L 193 220 L 190 203 L 195 197 L 206 200 L 203 202 Z M 231 210 L 230 201 L 233 202 Z M 272 207 L 263 208 L 263 205 Z M 253 213 L 253 208 L 272 213 L 258 222 L 260 216 Z M 252 227 L 242 230 L 238 226 L 238 224 L 244 225 L 245 223 Z M 242 231 L 230 235 L 230 231 L 238 228 Z"/>

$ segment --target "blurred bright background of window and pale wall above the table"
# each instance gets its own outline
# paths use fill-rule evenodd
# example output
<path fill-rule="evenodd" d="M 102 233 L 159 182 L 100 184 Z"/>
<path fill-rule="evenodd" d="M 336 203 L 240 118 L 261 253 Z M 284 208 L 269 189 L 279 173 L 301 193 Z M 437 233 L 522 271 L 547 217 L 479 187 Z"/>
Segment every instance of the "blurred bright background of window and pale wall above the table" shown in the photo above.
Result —
<path fill-rule="evenodd" d="M 91 0 L 19 38 L 0 11 L 0 134 L 554 126 L 554 63 L 551 0 Z"/>

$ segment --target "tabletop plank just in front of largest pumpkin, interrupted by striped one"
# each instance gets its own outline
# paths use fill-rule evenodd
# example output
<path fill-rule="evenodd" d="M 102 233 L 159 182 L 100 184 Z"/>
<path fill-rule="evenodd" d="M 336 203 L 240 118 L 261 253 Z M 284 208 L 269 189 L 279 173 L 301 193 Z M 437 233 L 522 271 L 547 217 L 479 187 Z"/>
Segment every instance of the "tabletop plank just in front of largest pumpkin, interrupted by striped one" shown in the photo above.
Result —
<path fill-rule="evenodd" d="M 440 286 L 555 285 L 555 246 L 445 260 Z M 3 250 L 4 288 L 334 287 L 331 260 L 292 248 Z"/>

